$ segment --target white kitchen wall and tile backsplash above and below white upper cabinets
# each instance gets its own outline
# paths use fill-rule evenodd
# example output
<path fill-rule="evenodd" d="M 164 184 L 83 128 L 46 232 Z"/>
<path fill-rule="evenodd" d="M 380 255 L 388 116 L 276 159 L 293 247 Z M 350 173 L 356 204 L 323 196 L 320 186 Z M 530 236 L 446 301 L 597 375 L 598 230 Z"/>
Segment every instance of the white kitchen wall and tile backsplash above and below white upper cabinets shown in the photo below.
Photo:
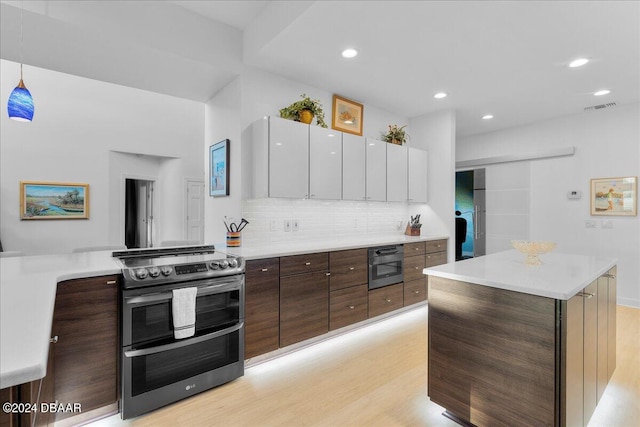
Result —
<path fill-rule="evenodd" d="M 239 104 L 237 103 L 238 93 L 240 94 Z M 250 162 L 247 161 L 251 153 L 246 148 L 250 143 L 251 124 L 264 116 L 279 116 L 280 108 L 299 100 L 302 93 L 306 93 L 311 98 L 320 99 L 325 111 L 325 122 L 331 126 L 333 93 L 251 67 L 247 67 L 236 81 L 228 85 L 207 103 L 207 140 L 211 139 L 209 135 L 220 131 L 223 131 L 219 133 L 220 137 L 225 137 L 224 131 L 237 137 L 238 127 L 234 114 L 237 109 L 240 110 L 242 139 L 240 143 L 242 148 L 240 150 L 243 157 L 240 165 L 243 168 L 240 179 L 243 182 L 242 185 L 245 186 L 245 191 L 243 192 L 245 196 L 249 194 L 246 186 L 249 185 L 251 173 Z M 349 96 L 349 94 L 341 95 Z M 450 117 L 450 115 L 447 115 L 447 120 L 450 120 Z M 438 119 L 435 119 L 434 123 L 437 122 Z M 380 108 L 365 105 L 363 124 L 364 136 L 380 139 L 381 132 L 386 131 L 389 124 L 407 125 L 409 124 L 409 119 Z M 451 122 L 447 121 L 445 127 L 450 125 Z M 410 126 L 407 127 L 407 132 L 411 135 L 410 144 L 414 144 L 414 141 L 425 139 L 421 137 L 420 133 L 414 135 Z M 226 137 L 229 138 L 229 136 Z M 235 142 L 232 141 L 232 146 L 235 150 L 234 144 Z M 428 144 L 420 145 L 420 143 L 417 143 L 415 146 L 423 149 L 429 148 Z M 238 167 L 237 162 L 239 160 L 234 159 L 234 152 L 237 153 L 237 151 L 232 152 L 231 163 L 235 169 Z M 438 154 L 430 157 L 431 162 L 438 162 Z M 206 164 L 208 165 L 208 161 L 206 161 Z M 453 175 L 451 171 L 450 174 Z M 231 173 L 233 175 L 233 169 Z M 232 180 L 234 179 L 237 178 L 232 176 Z M 241 201 L 238 199 L 237 190 L 233 188 L 237 189 L 237 187 L 232 187 L 230 197 L 207 202 L 205 241 L 210 243 L 224 242 L 225 230 L 222 227 L 222 217 L 224 215 L 234 217 L 236 220 L 244 216 L 250 221 L 250 225 L 243 233 L 243 242 L 245 244 L 265 240 L 276 242 L 289 239 L 307 240 L 342 237 L 354 234 L 402 233 L 402 230 L 398 231 L 397 229 L 398 221 L 408 221 L 410 215 L 415 215 L 418 212 L 423 212 L 423 218 L 426 217 L 427 224 L 425 227 L 429 227 L 432 223 L 437 223 L 435 227 L 438 232 L 449 234 L 446 227 L 442 227 L 442 222 L 428 205 L 407 206 L 401 203 L 352 203 L 346 201 L 285 199 L 245 199 Z M 451 189 L 453 191 L 453 187 Z M 435 190 L 435 193 L 440 193 L 441 191 L 447 190 L 441 188 Z M 453 206 L 453 202 L 451 202 L 451 206 Z M 453 212 L 451 212 L 451 217 L 453 218 Z M 282 221 L 294 218 L 300 221 L 300 231 L 297 233 L 285 233 L 282 230 Z M 270 229 L 271 220 L 276 220 L 279 224 L 276 231 L 271 231 Z"/>

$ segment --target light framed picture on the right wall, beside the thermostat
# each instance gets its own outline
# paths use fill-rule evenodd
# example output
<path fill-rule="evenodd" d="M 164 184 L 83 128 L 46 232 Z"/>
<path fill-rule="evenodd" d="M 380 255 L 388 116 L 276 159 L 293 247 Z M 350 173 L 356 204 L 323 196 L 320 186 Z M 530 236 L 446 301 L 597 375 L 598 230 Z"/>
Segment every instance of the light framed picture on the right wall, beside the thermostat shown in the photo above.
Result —
<path fill-rule="evenodd" d="M 638 178 L 591 180 L 591 215 L 635 216 L 638 209 Z"/>

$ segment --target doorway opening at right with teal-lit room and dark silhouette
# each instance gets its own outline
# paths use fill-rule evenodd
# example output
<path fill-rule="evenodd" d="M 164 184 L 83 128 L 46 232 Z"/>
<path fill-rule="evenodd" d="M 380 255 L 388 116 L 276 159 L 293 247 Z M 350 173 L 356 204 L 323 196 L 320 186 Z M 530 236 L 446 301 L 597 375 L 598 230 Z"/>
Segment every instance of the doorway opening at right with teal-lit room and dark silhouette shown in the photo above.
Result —
<path fill-rule="evenodd" d="M 485 170 L 456 172 L 456 261 L 486 253 Z"/>

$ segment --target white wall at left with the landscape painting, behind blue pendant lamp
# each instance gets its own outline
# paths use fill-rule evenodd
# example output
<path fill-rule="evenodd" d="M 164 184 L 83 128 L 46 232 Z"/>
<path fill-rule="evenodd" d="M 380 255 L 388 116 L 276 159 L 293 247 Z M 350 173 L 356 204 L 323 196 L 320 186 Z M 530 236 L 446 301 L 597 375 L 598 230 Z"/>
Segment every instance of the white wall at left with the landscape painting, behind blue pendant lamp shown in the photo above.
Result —
<path fill-rule="evenodd" d="M 122 244 L 119 200 L 126 174 L 157 174 L 155 213 L 162 226 L 156 241 L 182 238 L 184 197 L 178 192 L 184 176 L 203 176 L 204 104 L 36 67 L 25 66 L 24 71 L 35 103 L 31 123 L 8 119 L 6 100 L 20 69 L 17 63 L 0 61 L 4 249 L 46 254 Z M 21 180 L 88 183 L 90 218 L 20 220 Z"/>

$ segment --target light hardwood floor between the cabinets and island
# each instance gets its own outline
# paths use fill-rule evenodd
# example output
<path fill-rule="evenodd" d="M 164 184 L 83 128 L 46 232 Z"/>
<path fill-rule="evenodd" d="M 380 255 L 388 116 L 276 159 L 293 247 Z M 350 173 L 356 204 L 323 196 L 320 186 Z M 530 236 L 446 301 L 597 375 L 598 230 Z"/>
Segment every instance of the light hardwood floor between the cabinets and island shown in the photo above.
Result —
<path fill-rule="evenodd" d="M 640 426 L 640 310 L 618 306 L 617 368 L 590 427 Z M 98 426 L 456 426 L 426 395 L 427 308 L 250 367 L 214 390 Z"/>

